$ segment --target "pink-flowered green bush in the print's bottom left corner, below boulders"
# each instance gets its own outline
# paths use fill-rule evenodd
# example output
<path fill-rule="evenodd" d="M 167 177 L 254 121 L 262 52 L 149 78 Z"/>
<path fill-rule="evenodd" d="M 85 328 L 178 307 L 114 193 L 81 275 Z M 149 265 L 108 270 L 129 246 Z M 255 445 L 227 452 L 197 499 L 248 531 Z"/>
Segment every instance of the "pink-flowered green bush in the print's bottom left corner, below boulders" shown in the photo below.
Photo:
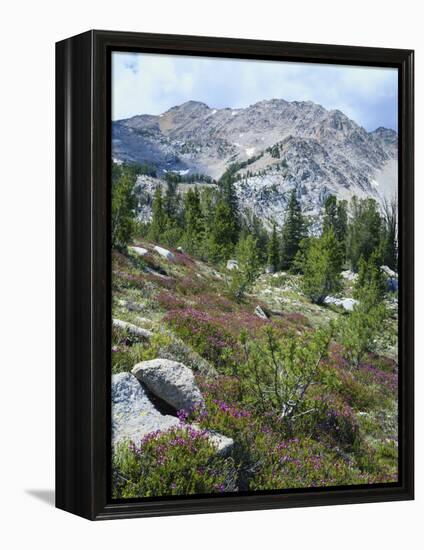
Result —
<path fill-rule="evenodd" d="M 216 455 L 205 431 L 187 426 L 122 443 L 113 455 L 113 497 L 144 498 L 235 490 L 234 462 Z"/>

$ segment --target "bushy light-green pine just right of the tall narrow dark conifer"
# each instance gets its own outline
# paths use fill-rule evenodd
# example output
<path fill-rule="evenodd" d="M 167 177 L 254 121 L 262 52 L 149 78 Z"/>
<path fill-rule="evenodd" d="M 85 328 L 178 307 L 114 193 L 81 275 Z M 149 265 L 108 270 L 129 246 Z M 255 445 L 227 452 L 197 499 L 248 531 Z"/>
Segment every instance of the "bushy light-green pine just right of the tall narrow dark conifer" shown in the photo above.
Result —
<path fill-rule="evenodd" d="M 303 291 L 312 302 L 324 299 L 341 289 L 342 255 L 332 228 L 321 237 L 308 240 L 303 266 Z"/>

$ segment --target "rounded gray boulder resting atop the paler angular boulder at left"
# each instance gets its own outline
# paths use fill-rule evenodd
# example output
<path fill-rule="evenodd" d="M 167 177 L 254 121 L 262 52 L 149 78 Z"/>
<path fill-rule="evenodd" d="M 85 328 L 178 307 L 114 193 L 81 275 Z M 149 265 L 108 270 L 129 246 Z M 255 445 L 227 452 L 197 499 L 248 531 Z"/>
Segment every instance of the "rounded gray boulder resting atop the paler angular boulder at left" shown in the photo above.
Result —
<path fill-rule="evenodd" d="M 152 359 L 138 363 L 131 372 L 152 393 L 177 410 L 189 411 L 204 406 L 193 373 L 183 363 L 170 359 Z"/>

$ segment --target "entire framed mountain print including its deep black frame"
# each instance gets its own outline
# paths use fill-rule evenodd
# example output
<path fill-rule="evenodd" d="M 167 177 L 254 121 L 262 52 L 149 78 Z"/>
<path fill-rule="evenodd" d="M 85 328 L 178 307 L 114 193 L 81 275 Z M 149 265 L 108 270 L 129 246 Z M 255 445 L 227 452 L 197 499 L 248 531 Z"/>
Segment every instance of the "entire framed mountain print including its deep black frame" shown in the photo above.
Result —
<path fill-rule="evenodd" d="M 56 45 L 56 504 L 413 498 L 413 52 Z"/>

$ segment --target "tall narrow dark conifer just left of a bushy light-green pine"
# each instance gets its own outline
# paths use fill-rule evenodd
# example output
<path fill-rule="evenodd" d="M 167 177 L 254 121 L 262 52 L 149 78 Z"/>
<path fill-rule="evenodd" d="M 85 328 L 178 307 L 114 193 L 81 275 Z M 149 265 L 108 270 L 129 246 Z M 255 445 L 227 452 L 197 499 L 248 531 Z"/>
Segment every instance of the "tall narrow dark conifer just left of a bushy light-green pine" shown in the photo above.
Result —
<path fill-rule="evenodd" d="M 283 269 L 291 268 L 294 257 L 299 250 L 300 241 L 304 236 L 305 221 L 302 216 L 300 202 L 296 197 L 296 191 L 293 190 L 290 194 L 282 230 L 280 263 Z"/>

